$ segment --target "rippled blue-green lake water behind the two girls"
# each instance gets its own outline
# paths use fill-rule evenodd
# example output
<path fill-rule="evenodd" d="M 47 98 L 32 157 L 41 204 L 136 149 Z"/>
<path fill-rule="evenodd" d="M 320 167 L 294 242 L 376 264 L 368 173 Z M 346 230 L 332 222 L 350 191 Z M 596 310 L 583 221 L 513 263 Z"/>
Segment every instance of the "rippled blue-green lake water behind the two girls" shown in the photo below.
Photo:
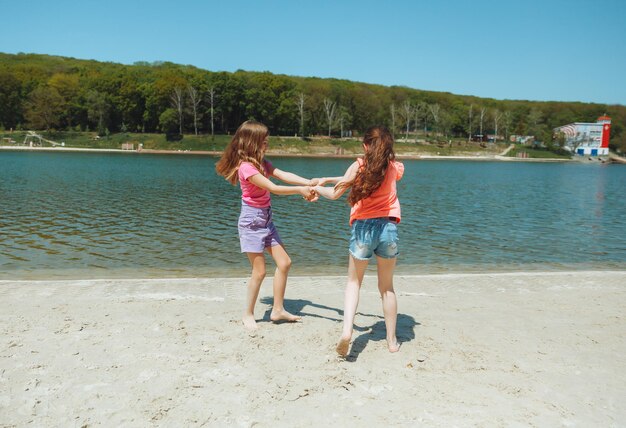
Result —
<path fill-rule="evenodd" d="M 303 176 L 349 159 L 271 158 Z M 215 157 L 0 152 L 0 279 L 242 276 Z M 626 167 L 404 161 L 398 272 L 626 268 Z M 292 274 L 341 274 L 349 207 L 272 196 Z M 271 270 L 268 269 L 271 272 Z"/>

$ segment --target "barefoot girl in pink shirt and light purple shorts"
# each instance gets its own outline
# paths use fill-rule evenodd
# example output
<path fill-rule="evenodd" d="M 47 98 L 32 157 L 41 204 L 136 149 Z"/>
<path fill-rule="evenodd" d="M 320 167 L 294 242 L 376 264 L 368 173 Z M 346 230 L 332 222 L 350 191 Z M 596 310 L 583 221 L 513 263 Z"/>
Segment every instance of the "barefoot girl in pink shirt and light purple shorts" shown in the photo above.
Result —
<path fill-rule="evenodd" d="M 270 193 L 277 195 L 300 194 L 305 199 L 316 200 L 317 195 L 311 188 L 318 180 L 307 180 L 299 175 L 281 171 L 267 160 L 265 151 L 269 141 L 269 130 L 262 123 L 246 121 L 233 136 L 217 162 L 217 173 L 231 184 L 241 186 L 241 214 L 238 231 L 241 252 L 248 255 L 252 274 L 248 281 L 246 308 L 243 324 L 246 328 L 257 328 L 254 318 L 254 306 L 259 296 L 261 283 L 265 278 L 265 255 L 267 251 L 276 262 L 274 273 L 274 305 L 270 319 L 272 321 L 298 321 L 299 316 L 285 310 L 284 298 L 287 287 L 287 275 L 291 267 L 291 258 L 285 251 L 283 242 L 272 221 Z M 297 186 L 279 186 L 269 177 Z"/>

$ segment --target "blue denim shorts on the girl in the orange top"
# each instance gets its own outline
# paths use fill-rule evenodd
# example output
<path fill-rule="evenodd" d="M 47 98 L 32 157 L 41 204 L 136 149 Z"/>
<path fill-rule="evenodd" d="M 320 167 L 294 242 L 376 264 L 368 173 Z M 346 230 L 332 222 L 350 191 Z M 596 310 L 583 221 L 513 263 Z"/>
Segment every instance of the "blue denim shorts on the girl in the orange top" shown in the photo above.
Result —
<path fill-rule="evenodd" d="M 398 226 L 389 217 L 355 220 L 352 223 L 350 254 L 357 260 L 369 260 L 372 254 L 393 259 L 398 251 Z"/>

